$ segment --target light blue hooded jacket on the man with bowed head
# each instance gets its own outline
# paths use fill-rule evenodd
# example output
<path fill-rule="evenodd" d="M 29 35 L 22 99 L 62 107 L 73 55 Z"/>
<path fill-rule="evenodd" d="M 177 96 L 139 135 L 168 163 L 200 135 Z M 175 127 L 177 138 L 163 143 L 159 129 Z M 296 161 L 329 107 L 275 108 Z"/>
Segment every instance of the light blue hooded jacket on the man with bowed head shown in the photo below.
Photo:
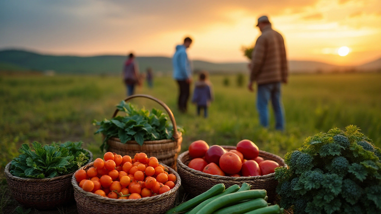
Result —
<path fill-rule="evenodd" d="M 191 66 L 184 45 L 176 46 L 176 53 L 173 55 L 173 78 L 175 80 L 186 80 L 191 77 Z"/>

